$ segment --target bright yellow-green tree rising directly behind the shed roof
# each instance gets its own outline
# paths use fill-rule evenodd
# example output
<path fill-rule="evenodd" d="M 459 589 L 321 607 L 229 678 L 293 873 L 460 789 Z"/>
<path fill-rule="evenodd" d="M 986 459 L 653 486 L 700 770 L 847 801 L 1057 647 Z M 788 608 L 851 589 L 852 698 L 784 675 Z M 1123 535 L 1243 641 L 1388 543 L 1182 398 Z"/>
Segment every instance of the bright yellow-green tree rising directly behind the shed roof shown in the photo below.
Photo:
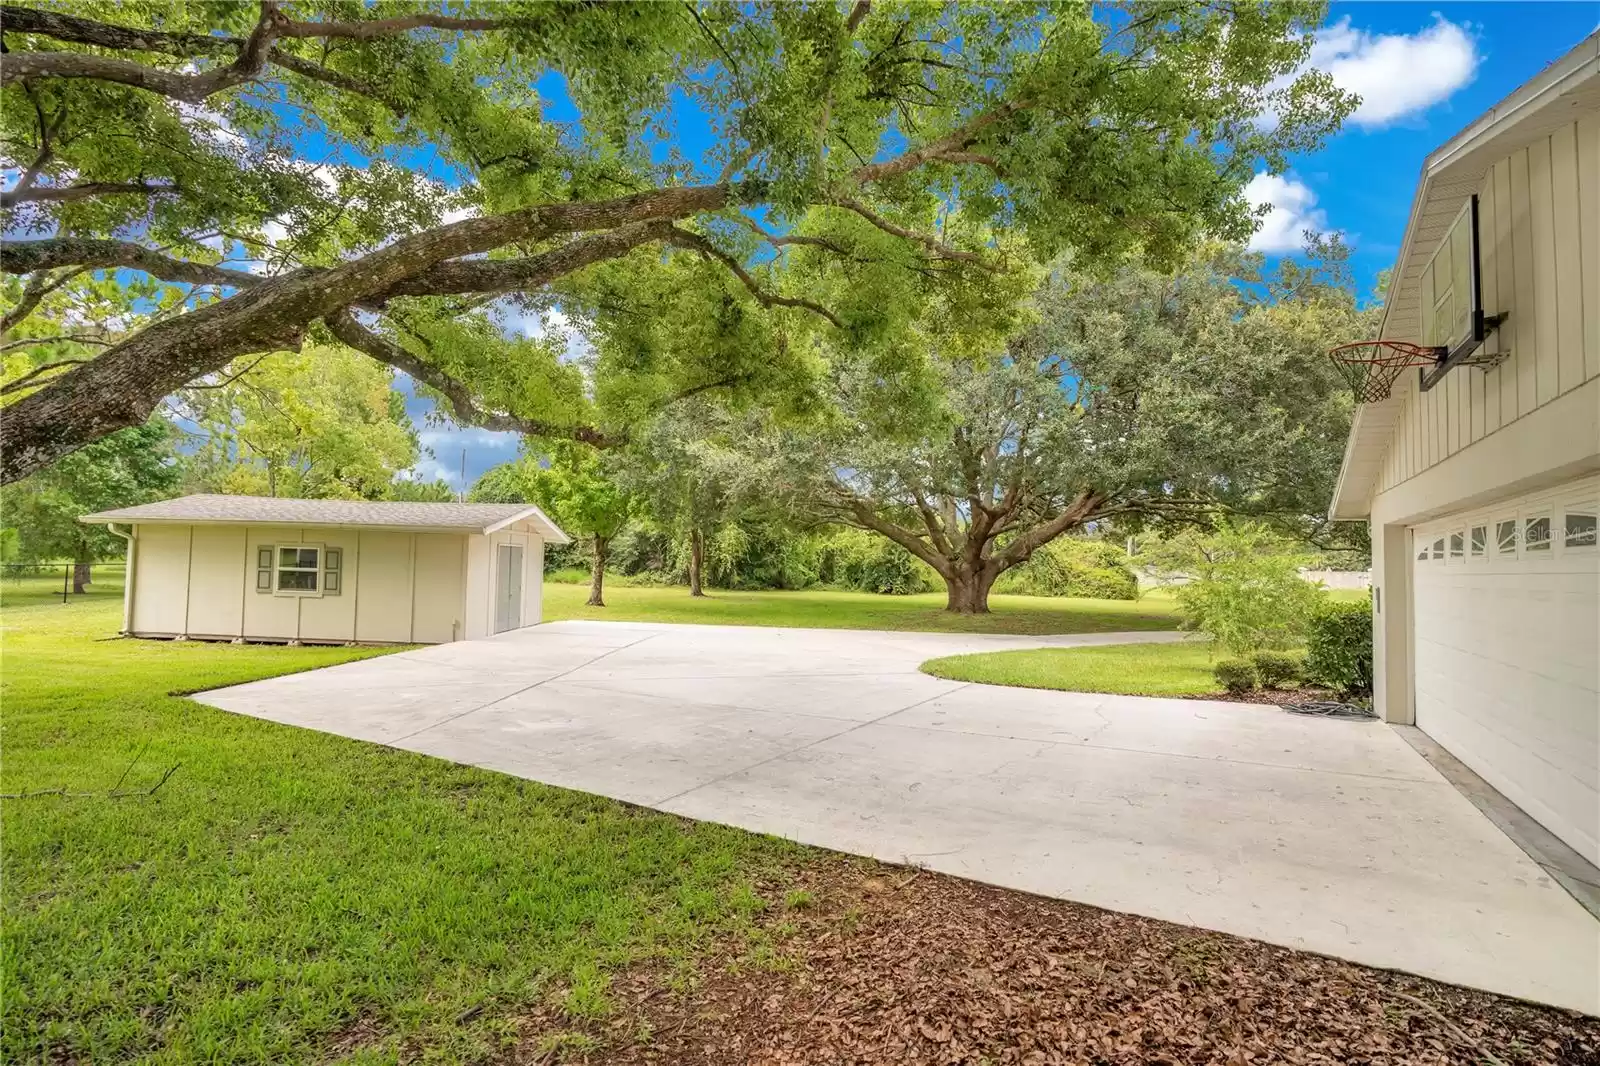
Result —
<path fill-rule="evenodd" d="M 394 371 L 346 349 L 274 352 L 190 386 L 174 408 L 200 434 L 192 483 L 246 496 L 381 499 L 416 464 Z"/>

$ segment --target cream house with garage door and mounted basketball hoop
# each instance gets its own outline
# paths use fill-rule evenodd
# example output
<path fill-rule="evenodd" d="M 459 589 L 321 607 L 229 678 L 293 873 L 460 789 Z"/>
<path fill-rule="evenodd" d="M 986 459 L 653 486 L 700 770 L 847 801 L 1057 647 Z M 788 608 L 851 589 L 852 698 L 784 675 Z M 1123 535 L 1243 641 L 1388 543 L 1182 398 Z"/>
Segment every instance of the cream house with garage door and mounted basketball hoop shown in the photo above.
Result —
<path fill-rule="evenodd" d="M 1376 709 L 1600 864 L 1600 34 L 1427 157 L 1379 336 L 1435 363 L 1357 408 L 1330 511 Z"/>

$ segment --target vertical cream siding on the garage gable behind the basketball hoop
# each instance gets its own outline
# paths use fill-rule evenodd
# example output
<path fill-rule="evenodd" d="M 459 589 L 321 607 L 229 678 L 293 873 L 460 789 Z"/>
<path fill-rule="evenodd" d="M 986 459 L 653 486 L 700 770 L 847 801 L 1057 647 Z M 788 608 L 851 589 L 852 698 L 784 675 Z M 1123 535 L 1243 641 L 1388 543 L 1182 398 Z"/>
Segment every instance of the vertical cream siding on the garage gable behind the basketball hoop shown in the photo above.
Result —
<path fill-rule="evenodd" d="M 1490 344 L 1510 357 L 1429 392 L 1406 378 L 1379 493 L 1600 376 L 1600 115 L 1496 162 L 1477 192 L 1485 311 L 1509 315 Z"/>

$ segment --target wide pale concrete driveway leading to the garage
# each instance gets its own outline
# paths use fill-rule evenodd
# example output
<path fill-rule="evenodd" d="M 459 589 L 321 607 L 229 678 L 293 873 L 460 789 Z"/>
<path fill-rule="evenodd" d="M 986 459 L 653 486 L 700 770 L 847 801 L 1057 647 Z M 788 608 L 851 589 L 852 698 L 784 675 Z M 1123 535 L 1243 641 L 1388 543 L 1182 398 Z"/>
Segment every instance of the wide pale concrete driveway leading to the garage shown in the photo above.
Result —
<path fill-rule="evenodd" d="M 1174 637 L 568 621 L 197 699 L 1600 1012 L 1600 924 L 1386 725 L 917 672 Z"/>

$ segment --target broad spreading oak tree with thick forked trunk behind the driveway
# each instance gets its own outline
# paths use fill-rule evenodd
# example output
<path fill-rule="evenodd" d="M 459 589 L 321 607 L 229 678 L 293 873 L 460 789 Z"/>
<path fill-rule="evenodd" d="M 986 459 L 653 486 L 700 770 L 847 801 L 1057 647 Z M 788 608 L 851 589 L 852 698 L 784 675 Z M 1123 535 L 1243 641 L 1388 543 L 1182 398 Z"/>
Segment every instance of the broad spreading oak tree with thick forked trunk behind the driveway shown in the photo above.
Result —
<path fill-rule="evenodd" d="M 925 333 L 915 375 L 840 359 L 830 418 L 787 439 L 797 488 L 926 562 L 963 613 L 1091 523 L 1310 514 L 1350 418 L 1323 351 L 1360 312 L 1342 296 L 1269 303 L 1259 282 L 1259 261 L 1226 248 L 1176 274 L 1059 266 L 1000 351 Z"/>

